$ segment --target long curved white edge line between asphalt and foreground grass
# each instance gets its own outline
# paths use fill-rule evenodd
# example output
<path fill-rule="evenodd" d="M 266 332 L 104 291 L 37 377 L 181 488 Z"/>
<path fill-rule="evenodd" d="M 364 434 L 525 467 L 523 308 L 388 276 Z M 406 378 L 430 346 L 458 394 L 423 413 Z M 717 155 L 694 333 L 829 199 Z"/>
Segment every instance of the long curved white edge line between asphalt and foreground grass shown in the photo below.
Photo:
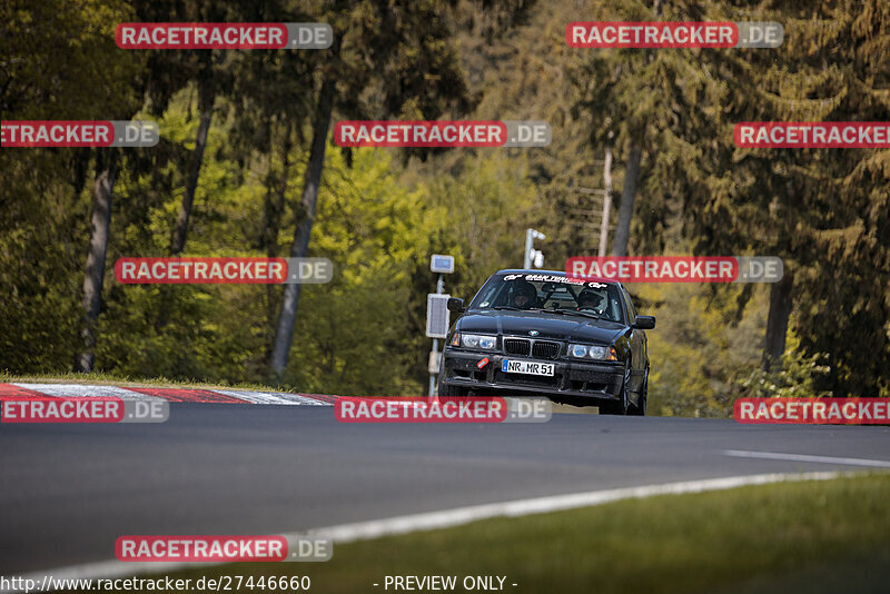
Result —
<path fill-rule="evenodd" d="M 375 519 L 370 522 L 358 522 L 355 524 L 343 524 L 339 526 L 327 526 L 300 532 L 281 534 L 288 541 L 299 537 L 315 536 L 319 538 L 330 538 L 337 544 L 352 543 L 355 541 L 366 541 L 380 536 L 407 534 L 411 532 L 428 531 L 436 528 L 449 528 L 493 517 L 520 517 L 532 514 L 546 514 L 550 512 L 561 512 L 575 509 L 578 507 L 591 507 L 605 503 L 622 499 L 639 499 L 656 495 L 679 495 L 683 493 L 704 493 L 708 491 L 723 491 L 749 485 L 768 485 L 771 483 L 782 483 L 792 481 L 830 481 L 848 473 L 801 473 L 801 474 L 760 474 L 749 476 L 729 476 L 724 478 L 706 478 L 702 481 L 686 481 L 682 483 L 668 483 L 662 485 L 646 485 L 642 487 L 613 488 L 606 491 L 591 491 L 570 495 L 554 495 L 550 497 L 535 497 L 531 499 L 520 499 L 513 502 L 493 503 L 485 505 L 473 505 L 458 507 L 442 512 L 429 512 L 425 514 L 413 514 L 406 516 L 390 517 L 386 519 Z M 111 546 L 111 545 L 109 545 Z M 336 554 L 336 551 L 335 551 Z M 190 563 L 190 562 L 121 562 L 105 561 L 99 563 L 87 563 L 82 565 L 71 565 L 58 567 L 43 572 L 32 572 L 21 577 L 23 580 L 40 581 L 44 575 L 51 575 L 58 580 L 97 580 L 126 577 L 139 574 L 162 574 L 190 567 L 210 567 L 214 565 L 225 565 L 224 563 Z M 6 591 L 4 591 L 6 592 Z M 21 592 L 21 591 L 9 591 Z"/>

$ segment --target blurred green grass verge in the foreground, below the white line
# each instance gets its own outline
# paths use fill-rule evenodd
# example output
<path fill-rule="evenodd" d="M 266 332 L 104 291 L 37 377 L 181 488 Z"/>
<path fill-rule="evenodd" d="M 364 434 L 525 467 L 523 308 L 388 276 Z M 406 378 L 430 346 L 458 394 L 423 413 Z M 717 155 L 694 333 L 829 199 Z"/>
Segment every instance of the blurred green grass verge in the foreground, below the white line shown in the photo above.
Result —
<path fill-rule="evenodd" d="M 326 563 L 168 575 L 308 575 L 328 594 L 394 592 L 386 575 L 456 575 L 454 592 L 466 575 L 506 576 L 515 593 L 887 592 L 890 474 L 630 499 L 335 545 Z"/>

